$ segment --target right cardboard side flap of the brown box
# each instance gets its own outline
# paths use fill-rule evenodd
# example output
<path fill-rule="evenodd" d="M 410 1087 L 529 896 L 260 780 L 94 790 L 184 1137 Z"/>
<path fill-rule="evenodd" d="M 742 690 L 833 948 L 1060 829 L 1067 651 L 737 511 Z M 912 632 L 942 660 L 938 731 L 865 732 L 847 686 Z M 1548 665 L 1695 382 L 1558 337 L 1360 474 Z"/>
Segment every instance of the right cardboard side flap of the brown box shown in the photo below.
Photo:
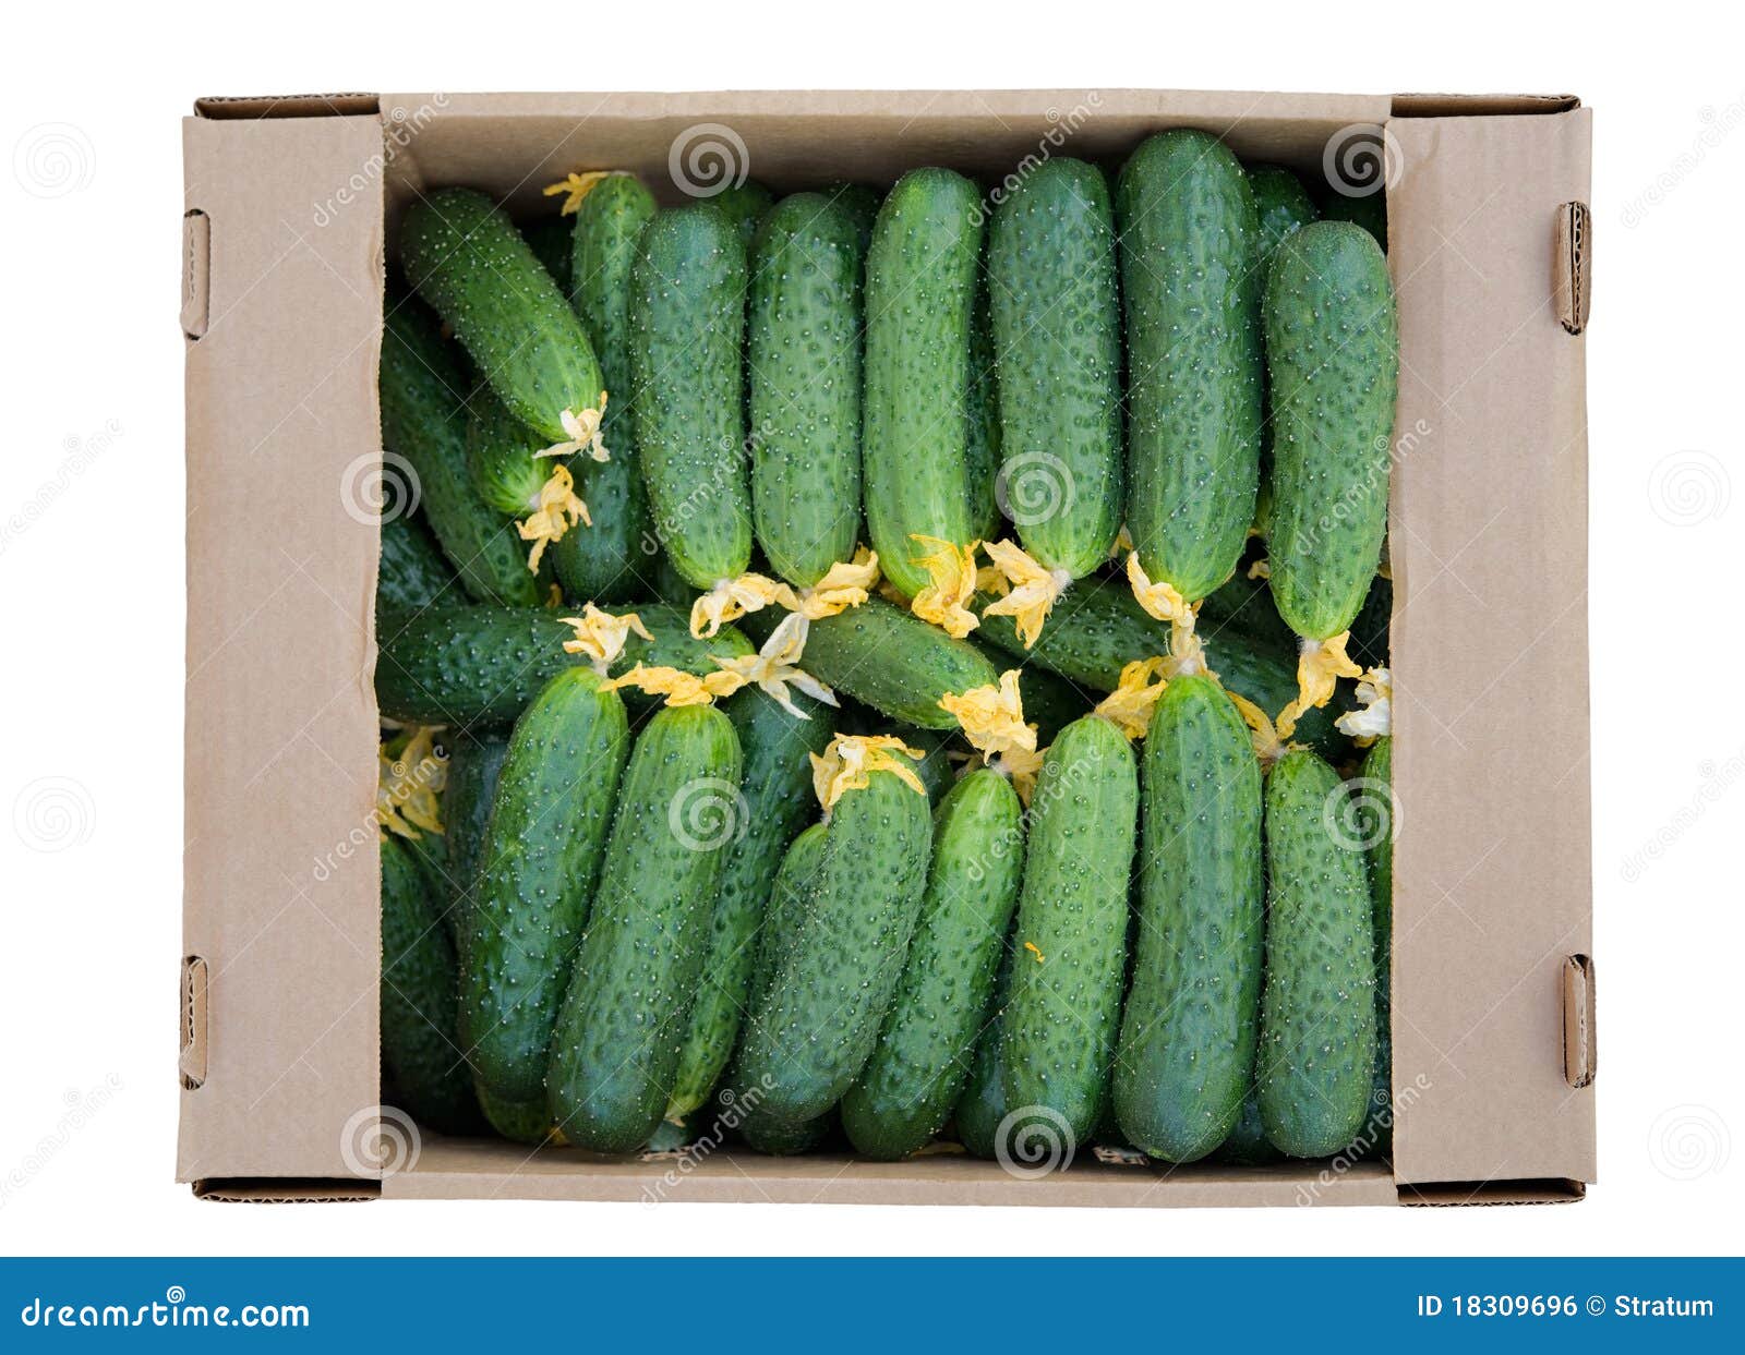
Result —
<path fill-rule="evenodd" d="M 1591 947 L 1586 338 L 1555 303 L 1590 113 L 1389 131 L 1394 1172 L 1591 1181 L 1562 1010 Z"/>

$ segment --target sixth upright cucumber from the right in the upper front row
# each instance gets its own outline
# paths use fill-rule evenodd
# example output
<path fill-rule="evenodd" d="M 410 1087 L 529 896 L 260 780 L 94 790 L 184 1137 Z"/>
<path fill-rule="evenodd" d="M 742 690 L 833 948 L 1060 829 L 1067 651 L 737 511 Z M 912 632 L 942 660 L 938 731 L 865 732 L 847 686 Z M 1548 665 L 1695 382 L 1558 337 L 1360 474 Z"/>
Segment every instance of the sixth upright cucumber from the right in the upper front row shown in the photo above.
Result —
<path fill-rule="evenodd" d="M 714 206 L 663 211 L 630 274 L 630 391 L 654 527 L 695 588 L 745 572 L 745 244 Z"/>

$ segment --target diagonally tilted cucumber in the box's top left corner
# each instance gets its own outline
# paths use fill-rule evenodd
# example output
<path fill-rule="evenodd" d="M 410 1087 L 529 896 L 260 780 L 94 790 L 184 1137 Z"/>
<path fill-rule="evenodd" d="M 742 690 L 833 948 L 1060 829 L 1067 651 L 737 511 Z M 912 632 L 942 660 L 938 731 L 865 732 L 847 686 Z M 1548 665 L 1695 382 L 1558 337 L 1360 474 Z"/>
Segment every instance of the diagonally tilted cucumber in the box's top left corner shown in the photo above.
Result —
<path fill-rule="evenodd" d="M 564 410 L 599 405 L 606 384 L 588 335 L 489 197 L 438 188 L 414 202 L 400 227 L 400 260 L 497 398 L 548 443 L 569 436 Z"/>

